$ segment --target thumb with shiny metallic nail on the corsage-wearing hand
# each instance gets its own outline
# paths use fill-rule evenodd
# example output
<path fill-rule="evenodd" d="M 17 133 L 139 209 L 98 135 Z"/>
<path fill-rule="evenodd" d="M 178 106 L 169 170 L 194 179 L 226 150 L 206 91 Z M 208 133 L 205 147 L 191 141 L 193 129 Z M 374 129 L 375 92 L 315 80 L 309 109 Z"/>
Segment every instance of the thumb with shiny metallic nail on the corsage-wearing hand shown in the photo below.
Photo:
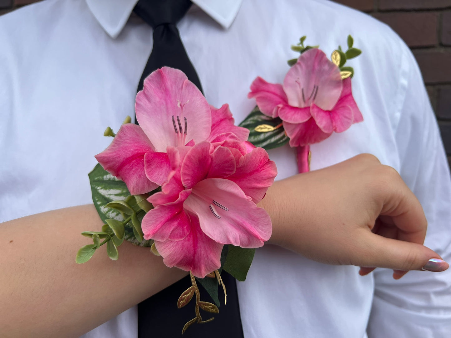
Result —
<path fill-rule="evenodd" d="M 449 267 L 437 252 L 418 243 L 386 238 L 375 233 L 367 233 L 365 240 L 359 243 L 359 266 L 433 272 L 444 271 Z"/>

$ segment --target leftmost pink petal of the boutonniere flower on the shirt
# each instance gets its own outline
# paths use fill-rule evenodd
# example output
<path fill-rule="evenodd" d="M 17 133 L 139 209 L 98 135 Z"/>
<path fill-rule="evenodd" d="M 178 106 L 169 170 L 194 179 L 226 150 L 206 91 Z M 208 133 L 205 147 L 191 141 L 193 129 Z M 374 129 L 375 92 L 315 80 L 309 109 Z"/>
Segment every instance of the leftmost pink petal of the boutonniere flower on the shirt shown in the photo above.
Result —
<path fill-rule="evenodd" d="M 280 84 L 266 82 L 262 78 L 256 78 L 251 84 L 249 99 L 255 97 L 258 109 L 271 117 L 277 117 L 277 106 L 286 104 L 287 98 Z"/>

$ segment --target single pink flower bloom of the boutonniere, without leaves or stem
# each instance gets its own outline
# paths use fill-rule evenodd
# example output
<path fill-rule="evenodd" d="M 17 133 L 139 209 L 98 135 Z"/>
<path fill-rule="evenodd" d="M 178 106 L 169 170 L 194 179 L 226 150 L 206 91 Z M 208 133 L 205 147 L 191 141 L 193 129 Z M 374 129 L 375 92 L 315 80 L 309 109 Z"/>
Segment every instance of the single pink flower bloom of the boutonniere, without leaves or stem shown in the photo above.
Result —
<path fill-rule="evenodd" d="M 255 97 L 263 114 L 282 119 L 292 147 L 321 142 L 363 121 L 351 79 L 341 80 L 340 69 L 319 49 L 299 56 L 283 85 L 256 78 L 248 97 Z"/>

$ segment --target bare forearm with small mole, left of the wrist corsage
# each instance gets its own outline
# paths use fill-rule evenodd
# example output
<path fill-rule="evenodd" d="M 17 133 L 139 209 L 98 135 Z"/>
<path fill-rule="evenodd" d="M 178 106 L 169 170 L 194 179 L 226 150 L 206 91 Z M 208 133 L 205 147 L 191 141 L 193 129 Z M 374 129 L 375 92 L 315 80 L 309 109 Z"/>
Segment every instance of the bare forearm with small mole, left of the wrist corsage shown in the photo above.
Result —
<path fill-rule="evenodd" d="M 117 261 L 102 246 L 75 263 L 80 233 L 101 226 L 93 205 L 0 224 L 2 337 L 78 337 L 187 274 L 126 241 Z"/>

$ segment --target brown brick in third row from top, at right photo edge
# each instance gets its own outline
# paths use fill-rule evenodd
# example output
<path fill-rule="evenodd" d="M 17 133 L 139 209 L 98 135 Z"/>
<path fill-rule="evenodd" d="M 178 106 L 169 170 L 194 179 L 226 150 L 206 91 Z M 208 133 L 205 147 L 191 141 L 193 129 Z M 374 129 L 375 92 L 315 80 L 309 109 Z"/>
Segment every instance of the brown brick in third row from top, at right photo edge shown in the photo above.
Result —
<path fill-rule="evenodd" d="M 415 50 L 414 55 L 425 83 L 451 82 L 451 50 Z"/>

